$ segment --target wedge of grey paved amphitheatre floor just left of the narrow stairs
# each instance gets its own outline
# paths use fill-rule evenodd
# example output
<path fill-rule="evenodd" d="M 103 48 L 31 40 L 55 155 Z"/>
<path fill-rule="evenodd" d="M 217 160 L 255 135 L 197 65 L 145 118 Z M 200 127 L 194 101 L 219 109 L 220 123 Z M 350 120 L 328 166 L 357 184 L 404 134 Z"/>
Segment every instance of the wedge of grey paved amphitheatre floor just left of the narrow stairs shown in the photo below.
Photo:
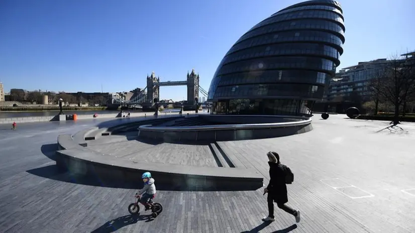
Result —
<path fill-rule="evenodd" d="M 209 145 L 162 143 L 146 151 L 134 151 L 121 156 L 120 159 L 196 167 L 219 167 Z"/>

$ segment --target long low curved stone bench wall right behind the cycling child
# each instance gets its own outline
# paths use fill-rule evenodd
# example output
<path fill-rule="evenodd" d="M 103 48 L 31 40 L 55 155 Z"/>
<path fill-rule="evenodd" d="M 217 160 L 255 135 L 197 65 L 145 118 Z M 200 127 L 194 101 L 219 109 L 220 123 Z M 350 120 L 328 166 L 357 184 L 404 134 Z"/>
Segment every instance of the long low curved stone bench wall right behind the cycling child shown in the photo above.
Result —
<path fill-rule="evenodd" d="M 56 165 L 73 175 L 137 183 L 137 177 L 150 171 L 160 186 L 172 190 L 257 190 L 263 177 L 255 169 L 194 167 L 176 164 L 120 160 L 118 158 L 73 148 L 56 152 Z"/>

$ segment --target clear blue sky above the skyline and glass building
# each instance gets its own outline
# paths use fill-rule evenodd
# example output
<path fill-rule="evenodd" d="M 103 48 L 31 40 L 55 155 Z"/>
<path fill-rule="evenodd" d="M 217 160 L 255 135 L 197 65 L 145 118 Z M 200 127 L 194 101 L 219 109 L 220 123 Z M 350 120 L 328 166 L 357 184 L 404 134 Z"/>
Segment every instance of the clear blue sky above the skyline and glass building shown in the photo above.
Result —
<path fill-rule="evenodd" d="M 252 26 L 296 0 L 2 0 L 0 80 L 5 90 L 129 91 L 185 80 L 208 89 L 219 62 Z M 415 1 L 343 0 L 339 68 L 415 50 Z M 412 23 L 410 23 L 412 22 Z M 161 87 L 181 100 L 185 86 Z"/>

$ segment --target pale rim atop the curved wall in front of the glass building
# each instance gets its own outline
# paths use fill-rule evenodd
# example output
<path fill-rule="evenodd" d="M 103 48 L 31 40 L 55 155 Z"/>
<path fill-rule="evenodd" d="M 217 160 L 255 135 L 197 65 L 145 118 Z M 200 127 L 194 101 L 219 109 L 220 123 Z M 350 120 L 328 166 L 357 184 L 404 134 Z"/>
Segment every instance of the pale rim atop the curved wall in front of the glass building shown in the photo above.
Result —
<path fill-rule="evenodd" d="M 291 117 L 293 118 L 293 117 Z M 298 117 L 296 117 L 298 118 Z M 212 130 L 236 130 L 236 129 L 263 129 L 282 128 L 291 126 L 303 126 L 310 124 L 312 119 L 303 119 L 297 122 L 263 123 L 263 124 L 234 124 L 234 125 L 211 125 L 211 126 L 182 126 L 182 127 L 153 127 L 151 125 L 140 126 L 144 131 L 212 131 Z"/>

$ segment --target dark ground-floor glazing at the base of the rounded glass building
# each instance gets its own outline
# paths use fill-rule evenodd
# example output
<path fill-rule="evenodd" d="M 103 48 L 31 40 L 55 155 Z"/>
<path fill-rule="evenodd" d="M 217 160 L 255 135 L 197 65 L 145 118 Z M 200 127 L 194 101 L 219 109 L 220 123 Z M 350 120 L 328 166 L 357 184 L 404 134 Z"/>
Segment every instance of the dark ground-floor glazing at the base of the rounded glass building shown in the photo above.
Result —
<path fill-rule="evenodd" d="M 212 114 L 309 115 L 313 104 L 300 99 L 229 99 L 215 102 Z"/>

